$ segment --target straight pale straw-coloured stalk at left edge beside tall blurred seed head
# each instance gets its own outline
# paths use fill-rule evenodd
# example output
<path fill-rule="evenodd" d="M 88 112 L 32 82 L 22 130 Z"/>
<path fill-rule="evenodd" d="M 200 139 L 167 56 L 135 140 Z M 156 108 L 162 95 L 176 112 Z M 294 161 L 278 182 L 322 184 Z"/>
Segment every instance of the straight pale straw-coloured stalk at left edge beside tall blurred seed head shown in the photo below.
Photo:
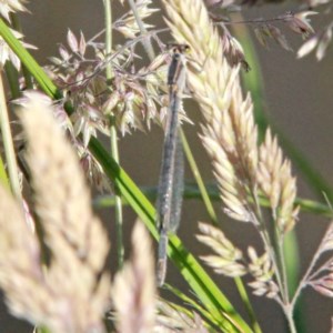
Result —
<path fill-rule="evenodd" d="M 0 128 L 4 148 L 4 155 L 8 165 L 9 182 L 14 196 L 21 202 L 21 186 L 19 181 L 19 170 L 16 152 L 12 142 L 12 134 L 9 124 L 8 108 L 4 95 L 2 74 L 0 74 Z"/>

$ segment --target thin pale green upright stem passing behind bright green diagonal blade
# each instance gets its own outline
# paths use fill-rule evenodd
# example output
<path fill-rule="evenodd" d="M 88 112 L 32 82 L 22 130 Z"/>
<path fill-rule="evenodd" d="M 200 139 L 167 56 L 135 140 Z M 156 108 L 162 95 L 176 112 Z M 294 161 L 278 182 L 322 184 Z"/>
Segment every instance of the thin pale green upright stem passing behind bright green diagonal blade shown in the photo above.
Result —
<path fill-rule="evenodd" d="M 111 0 L 103 0 L 104 2 L 104 20 L 105 20 L 105 53 L 107 57 L 112 52 L 112 7 Z M 105 68 L 105 74 L 108 83 L 112 80 L 114 73 L 111 61 L 108 62 Z M 111 157 L 119 163 L 119 149 L 118 149 L 118 137 L 114 115 L 110 115 L 110 143 L 111 143 Z M 115 194 L 115 230 L 117 230 L 117 255 L 118 265 L 123 265 L 124 248 L 123 248 L 123 216 L 122 216 L 122 203 L 121 196 L 118 189 L 118 183 L 114 184 Z"/>

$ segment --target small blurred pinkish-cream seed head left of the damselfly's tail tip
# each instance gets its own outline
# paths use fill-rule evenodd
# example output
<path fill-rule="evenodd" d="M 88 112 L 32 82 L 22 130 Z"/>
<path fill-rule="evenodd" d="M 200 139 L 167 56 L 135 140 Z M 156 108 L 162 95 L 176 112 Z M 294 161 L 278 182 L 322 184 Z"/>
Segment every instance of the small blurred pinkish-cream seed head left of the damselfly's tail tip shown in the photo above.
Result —
<path fill-rule="evenodd" d="M 155 312 L 153 252 L 148 232 L 137 223 L 132 233 L 132 258 L 114 278 L 112 299 L 118 332 L 152 332 Z"/>

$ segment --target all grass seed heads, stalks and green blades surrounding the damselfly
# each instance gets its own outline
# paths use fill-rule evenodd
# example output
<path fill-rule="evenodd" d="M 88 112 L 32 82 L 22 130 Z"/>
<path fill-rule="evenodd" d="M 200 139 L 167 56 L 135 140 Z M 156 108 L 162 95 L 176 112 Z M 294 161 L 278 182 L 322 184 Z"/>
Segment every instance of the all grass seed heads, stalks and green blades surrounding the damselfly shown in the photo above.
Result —
<path fill-rule="evenodd" d="M 248 27 L 264 47 L 271 39 L 286 51 L 291 47 L 284 31 L 292 30 L 305 39 L 297 57 L 315 52 L 322 60 L 333 23 L 315 32 L 309 17 L 316 13 L 313 8 L 329 17 L 331 4 L 313 0 L 295 13 L 235 20 L 234 10 L 241 12 L 249 2 L 258 4 L 162 0 L 163 12 L 151 0 L 103 0 L 104 31 L 87 40 L 82 32 L 75 36 L 69 30 L 60 56 L 42 69 L 29 52 L 33 47 L 23 43 L 18 32 L 16 12 L 27 11 L 29 3 L 0 0 L 0 286 L 14 316 L 40 332 L 262 332 L 264 317 L 252 304 L 253 294 L 278 304 L 286 332 L 302 332 L 300 305 L 305 289 L 333 296 L 333 222 L 301 279 L 295 271 L 302 253 L 295 250 L 294 233 L 302 210 L 333 218 L 333 189 L 270 125 L 255 97 L 243 93 L 251 87 L 246 79 L 245 88 L 241 87 L 240 74 L 251 70 L 253 53 L 239 41 L 244 36 L 235 36 L 232 28 Z M 129 11 L 112 18 L 115 6 Z M 164 16 L 167 26 L 154 29 L 148 23 L 152 16 Z M 121 46 L 112 42 L 115 30 L 123 34 Z M 152 124 L 165 128 L 167 70 L 172 59 L 165 32 L 171 32 L 174 43 L 191 49 L 184 97 L 200 107 L 199 135 L 215 179 L 213 190 L 204 184 L 181 132 L 198 185 L 185 188 L 184 198 L 196 195 L 210 220 L 199 222 L 193 238 L 210 254 L 195 258 L 181 239 L 169 235 L 168 255 L 192 291 L 189 296 L 165 284 L 163 290 L 175 295 L 176 303 L 159 296 L 150 238 L 159 240 L 155 211 L 144 189 L 119 164 L 118 151 L 120 134 L 150 130 Z M 143 46 L 148 65 L 138 61 L 138 46 Z M 9 120 L 13 109 L 21 129 L 17 138 L 16 122 Z M 180 120 L 191 122 L 185 111 L 182 104 Z M 262 121 L 256 123 L 258 119 Z M 110 152 L 101 134 L 109 138 Z M 324 192 L 325 204 L 297 198 L 292 162 L 314 192 Z M 88 183 L 108 195 L 92 200 Z M 261 244 L 249 241 L 245 250 L 238 248 L 222 230 L 212 200 L 221 200 L 232 220 L 251 225 Z M 92 202 L 97 208 L 114 205 L 114 279 L 105 269 L 108 232 L 92 212 Z M 124 204 L 141 220 L 134 225 L 127 261 Z M 211 274 L 204 266 L 212 269 Z M 245 315 L 215 284 L 213 273 L 234 280 Z"/>

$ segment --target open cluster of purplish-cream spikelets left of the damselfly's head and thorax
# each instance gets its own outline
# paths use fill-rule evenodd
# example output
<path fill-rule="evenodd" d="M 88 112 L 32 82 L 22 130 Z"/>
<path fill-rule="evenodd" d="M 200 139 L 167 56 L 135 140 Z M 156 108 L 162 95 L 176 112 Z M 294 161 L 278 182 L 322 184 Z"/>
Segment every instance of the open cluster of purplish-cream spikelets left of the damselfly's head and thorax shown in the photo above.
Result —
<path fill-rule="evenodd" d="M 115 117 L 122 134 L 132 129 L 149 129 L 151 121 L 160 122 L 158 108 L 161 105 L 161 82 L 164 82 L 165 69 L 163 63 L 134 69 L 138 58 L 135 44 L 140 40 L 134 38 L 128 47 L 120 47 L 105 56 L 101 43 L 85 42 L 82 33 L 79 39 L 69 31 L 68 47 L 61 46 L 60 58 L 51 59 L 53 67 L 48 71 L 59 87 L 70 92 L 68 98 L 74 105 L 72 121 L 75 134 L 83 134 L 85 147 L 97 132 L 109 135 L 110 113 Z M 92 58 L 87 56 L 89 50 L 93 51 Z M 108 62 L 113 69 L 111 82 L 107 82 L 104 77 Z"/>

